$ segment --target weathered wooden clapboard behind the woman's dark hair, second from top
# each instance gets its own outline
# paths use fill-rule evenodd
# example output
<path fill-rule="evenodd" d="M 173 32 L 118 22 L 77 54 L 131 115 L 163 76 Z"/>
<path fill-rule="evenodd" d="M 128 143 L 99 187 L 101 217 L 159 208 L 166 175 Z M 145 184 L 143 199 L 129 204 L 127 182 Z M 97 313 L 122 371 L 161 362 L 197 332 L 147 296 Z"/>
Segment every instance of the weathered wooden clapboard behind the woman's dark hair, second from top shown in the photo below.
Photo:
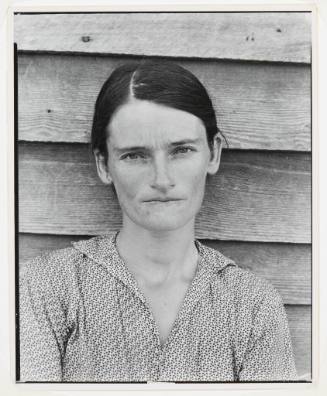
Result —
<path fill-rule="evenodd" d="M 89 141 L 106 78 L 131 58 L 20 55 L 19 139 Z M 230 148 L 311 150 L 310 66 L 178 62 L 208 88 Z"/>

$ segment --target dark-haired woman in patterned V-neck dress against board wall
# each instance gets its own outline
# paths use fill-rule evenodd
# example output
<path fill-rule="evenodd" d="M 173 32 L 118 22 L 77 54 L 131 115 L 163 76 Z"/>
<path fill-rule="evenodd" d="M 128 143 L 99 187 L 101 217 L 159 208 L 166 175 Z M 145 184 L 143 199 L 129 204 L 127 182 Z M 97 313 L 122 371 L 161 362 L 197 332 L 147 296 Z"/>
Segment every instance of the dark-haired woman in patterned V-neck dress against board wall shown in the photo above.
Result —
<path fill-rule="evenodd" d="M 26 266 L 21 379 L 296 380 L 277 292 L 194 236 L 222 149 L 198 79 L 161 61 L 118 67 L 92 149 L 122 227 Z"/>

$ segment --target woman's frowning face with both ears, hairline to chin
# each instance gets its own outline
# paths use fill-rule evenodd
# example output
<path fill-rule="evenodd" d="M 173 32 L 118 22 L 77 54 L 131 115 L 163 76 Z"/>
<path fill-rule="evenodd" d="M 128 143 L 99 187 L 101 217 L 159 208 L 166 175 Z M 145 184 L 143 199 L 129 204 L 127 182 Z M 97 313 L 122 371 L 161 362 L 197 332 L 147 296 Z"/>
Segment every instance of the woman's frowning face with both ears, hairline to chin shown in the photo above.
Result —
<path fill-rule="evenodd" d="M 133 99 L 108 126 L 108 163 L 97 160 L 101 179 L 115 186 L 123 224 L 149 231 L 176 230 L 194 221 L 206 176 L 218 170 L 220 147 L 209 150 L 196 116 Z"/>

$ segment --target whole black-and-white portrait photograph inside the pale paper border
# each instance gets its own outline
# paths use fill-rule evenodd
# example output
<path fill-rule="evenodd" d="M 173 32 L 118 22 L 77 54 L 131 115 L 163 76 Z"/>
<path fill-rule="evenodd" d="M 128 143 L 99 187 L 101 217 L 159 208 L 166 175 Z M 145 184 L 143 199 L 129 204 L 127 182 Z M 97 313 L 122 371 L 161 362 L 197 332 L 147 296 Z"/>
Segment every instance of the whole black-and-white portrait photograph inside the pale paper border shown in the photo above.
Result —
<path fill-rule="evenodd" d="M 311 383 L 311 11 L 16 12 L 16 382 Z"/>

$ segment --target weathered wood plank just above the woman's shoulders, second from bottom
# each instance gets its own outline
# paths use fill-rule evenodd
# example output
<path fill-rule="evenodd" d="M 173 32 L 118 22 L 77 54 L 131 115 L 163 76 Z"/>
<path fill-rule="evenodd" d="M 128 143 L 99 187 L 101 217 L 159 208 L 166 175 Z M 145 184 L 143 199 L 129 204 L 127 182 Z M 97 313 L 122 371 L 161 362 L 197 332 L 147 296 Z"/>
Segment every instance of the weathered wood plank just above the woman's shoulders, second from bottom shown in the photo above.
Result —
<path fill-rule="evenodd" d="M 19 261 L 26 263 L 46 251 L 71 246 L 71 242 L 87 239 L 81 235 L 20 234 Z M 249 269 L 271 282 L 285 304 L 311 304 L 310 245 L 207 241 L 232 258 L 237 265 Z"/>

